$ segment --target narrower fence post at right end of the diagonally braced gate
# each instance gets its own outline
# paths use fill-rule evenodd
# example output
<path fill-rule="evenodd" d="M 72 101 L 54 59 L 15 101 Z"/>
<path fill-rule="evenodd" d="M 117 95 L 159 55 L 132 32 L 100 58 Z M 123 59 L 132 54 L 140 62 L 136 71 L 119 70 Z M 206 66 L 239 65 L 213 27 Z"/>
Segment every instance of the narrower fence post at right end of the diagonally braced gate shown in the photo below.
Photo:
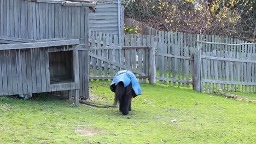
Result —
<path fill-rule="evenodd" d="M 154 41 L 153 47 L 150 47 L 149 53 L 149 76 L 148 80 L 150 84 L 156 84 L 156 68 L 155 68 L 155 49 L 158 43 Z"/>

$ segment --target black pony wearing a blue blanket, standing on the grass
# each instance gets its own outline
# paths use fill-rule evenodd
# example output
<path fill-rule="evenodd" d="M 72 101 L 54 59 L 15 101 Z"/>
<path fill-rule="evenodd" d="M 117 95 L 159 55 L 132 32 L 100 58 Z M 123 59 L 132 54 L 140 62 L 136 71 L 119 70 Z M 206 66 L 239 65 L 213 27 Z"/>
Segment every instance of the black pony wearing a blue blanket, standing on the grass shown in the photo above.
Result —
<path fill-rule="evenodd" d="M 132 98 L 141 94 L 136 76 L 129 70 L 118 71 L 110 84 L 110 89 L 115 93 L 114 105 L 119 103 L 119 111 L 123 115 L 128 115 L 131 111 Z"/>

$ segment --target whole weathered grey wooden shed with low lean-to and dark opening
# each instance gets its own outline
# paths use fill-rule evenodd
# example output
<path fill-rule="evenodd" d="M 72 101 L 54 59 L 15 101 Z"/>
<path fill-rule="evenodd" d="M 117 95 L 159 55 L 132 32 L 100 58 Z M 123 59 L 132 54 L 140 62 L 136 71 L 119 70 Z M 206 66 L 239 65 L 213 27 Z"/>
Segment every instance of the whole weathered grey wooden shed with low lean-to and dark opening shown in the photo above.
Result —
<path fill-rule="evenodd" d="M 89 97 L 90 1 L 0 0 L 0 95 Z"/>

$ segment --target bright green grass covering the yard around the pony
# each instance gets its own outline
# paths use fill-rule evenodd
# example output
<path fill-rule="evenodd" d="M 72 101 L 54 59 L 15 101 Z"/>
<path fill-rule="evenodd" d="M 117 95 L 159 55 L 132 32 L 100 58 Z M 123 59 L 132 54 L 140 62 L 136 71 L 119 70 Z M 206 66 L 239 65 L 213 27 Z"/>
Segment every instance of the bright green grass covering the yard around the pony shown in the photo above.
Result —
<path fill-rule="evenodd" d="M 110 81 L 90 81 L 95 101 L 113 103 Z M 191 89 L 141 84 L 132 111 L 37 95 L 0 97 L 0 143 L 255 143 L 256 106 Z M 235 93 L 236 94 L 236 93 Z M 255 93 L 239 93 L 255 98 Z M 177 121 L 172 122 L 173 119 Z M 80 132 L 80 133 L 79 133 Z M 94 135 L 89 135 L 94 134 Z"/>

